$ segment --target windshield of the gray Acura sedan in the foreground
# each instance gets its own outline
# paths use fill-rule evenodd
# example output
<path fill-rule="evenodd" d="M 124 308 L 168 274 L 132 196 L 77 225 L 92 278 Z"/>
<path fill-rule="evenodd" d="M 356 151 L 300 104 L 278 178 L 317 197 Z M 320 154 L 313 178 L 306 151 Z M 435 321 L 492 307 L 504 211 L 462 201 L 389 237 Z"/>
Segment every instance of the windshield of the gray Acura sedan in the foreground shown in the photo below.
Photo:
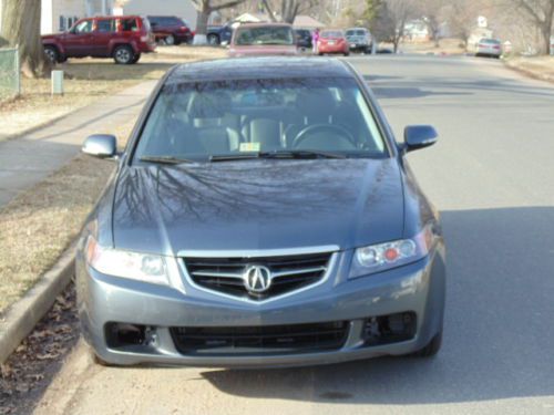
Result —
<path fill-rule="evenodd" d="M 279 79 L 166 84 L 134 159 L 209 162 L 287 152 L 388 156 L 353 80 Z"/>

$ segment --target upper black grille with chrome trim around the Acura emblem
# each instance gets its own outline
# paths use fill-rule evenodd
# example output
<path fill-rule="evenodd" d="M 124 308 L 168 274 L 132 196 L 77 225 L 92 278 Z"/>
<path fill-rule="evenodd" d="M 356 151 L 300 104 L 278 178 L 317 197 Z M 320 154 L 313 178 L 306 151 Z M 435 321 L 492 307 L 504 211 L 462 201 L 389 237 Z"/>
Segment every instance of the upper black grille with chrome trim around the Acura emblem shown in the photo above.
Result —
<path fill-rule="evenodd" d="M 192 280 L 213 291 L 265 300 L 295 291 L 320 281 L 329 266 L 331 253 L 310 253 L 259 258 L 184 258 Z M 249 267 L 261 266 L 270 271 L 270 287 L 253 292 L 245 284 L 244 274 Z"/>

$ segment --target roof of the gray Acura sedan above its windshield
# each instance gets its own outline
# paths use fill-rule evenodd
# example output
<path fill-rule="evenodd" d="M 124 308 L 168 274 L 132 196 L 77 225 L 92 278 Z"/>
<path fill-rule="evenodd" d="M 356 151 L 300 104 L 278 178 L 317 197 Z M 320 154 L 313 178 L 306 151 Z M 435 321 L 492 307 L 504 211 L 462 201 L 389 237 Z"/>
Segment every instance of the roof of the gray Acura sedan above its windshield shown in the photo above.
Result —
<path fill-rule="evenodd" d="M 294 77 L 352 77 L 352 73 L 343 62 L 330 58 L 236 58 L 181 64 L 166 84 Z"/>

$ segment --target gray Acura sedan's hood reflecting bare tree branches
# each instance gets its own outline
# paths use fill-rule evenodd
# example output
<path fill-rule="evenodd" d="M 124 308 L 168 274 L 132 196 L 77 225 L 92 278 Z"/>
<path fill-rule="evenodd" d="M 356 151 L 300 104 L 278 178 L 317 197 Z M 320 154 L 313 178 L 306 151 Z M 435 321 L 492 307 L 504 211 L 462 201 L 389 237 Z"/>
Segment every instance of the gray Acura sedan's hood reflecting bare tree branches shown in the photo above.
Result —
<path fill-rule="evenodd" d="M 113 209 L 115 248 L 163 255 L 350 249 L 403 232 L 394 159 L 130 167 L 119 178 Z"/>

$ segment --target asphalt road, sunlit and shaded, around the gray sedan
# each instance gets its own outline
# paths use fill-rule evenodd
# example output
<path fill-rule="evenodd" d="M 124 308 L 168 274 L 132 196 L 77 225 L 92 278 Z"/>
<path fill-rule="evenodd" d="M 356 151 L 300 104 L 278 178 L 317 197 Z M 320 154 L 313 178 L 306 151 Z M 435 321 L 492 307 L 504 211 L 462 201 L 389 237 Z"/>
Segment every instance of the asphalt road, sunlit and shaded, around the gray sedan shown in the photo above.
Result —
<path fill-rule="evenodd" d="M 277 371 L 104 369 L 82 347 L 39 413 L 554 414 L 554 87 L 468 58 L 351 60 L 442 211 L 449 247 L 443 350 Z"/>

